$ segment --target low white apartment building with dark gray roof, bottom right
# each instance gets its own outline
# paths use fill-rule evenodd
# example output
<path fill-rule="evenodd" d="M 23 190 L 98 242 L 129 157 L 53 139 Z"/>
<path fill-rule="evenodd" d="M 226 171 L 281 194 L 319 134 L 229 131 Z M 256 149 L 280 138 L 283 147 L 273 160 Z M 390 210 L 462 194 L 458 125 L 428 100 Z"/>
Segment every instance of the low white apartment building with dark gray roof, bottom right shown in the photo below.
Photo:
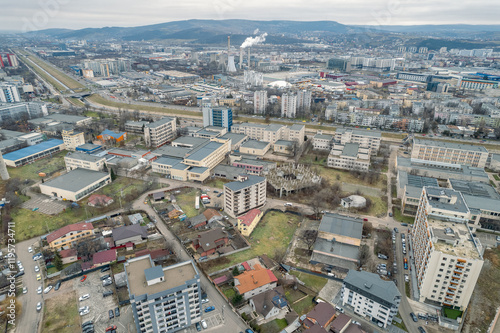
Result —
<path fill-rule="evenodd" d="M 349 270 L 341 290 L 343 306 L 349 306 L 363 317 L 381 323 L 384 328 L 398 313 L 401 293 L 392 281 L 384 281 L 377 274 Z"/>

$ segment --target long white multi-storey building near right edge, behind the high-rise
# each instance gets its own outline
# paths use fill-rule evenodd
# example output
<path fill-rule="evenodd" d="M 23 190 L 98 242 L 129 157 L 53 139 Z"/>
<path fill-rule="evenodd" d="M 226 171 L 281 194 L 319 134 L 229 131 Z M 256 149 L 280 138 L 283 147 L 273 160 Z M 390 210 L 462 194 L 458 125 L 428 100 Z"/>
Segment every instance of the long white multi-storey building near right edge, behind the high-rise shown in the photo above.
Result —
<path fill-rule="evenodd" d="M 484 168 L 488 151 L 483 146 L 414 138 L 411 158 Z"/>

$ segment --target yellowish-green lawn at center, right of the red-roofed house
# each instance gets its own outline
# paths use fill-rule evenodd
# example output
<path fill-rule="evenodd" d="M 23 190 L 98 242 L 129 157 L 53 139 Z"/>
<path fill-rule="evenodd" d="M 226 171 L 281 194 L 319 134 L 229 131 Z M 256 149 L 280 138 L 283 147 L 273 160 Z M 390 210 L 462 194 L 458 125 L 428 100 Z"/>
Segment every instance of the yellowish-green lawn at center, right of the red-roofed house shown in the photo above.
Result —
<path fill-rule="evenodd" d="M 267 213 L 255 227 L 249 239 L 252 245 L 250 249 L 225 257 L 228 261 L 224 264 L 207 265 L 207 271 L 209 273 L 216 272 L 262 254 L 272 256 L 276 249 L 286 249 L 292 240 L 299 221 L 300 217 L 293 214 L 274 211 Z"/>

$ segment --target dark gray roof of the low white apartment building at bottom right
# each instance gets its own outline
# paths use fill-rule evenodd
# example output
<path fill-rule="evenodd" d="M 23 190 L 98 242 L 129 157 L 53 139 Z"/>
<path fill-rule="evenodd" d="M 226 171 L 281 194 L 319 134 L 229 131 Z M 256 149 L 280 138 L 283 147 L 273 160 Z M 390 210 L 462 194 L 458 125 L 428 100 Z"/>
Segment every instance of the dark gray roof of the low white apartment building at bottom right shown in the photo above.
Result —
<path fill-rule="evenodd" d="M 401 293 L 392 281 L 384 281 L 377 274 L 366 271 L 349 270 L 344 285 L 373 301 L 387 307 L 396 306 Z"/>

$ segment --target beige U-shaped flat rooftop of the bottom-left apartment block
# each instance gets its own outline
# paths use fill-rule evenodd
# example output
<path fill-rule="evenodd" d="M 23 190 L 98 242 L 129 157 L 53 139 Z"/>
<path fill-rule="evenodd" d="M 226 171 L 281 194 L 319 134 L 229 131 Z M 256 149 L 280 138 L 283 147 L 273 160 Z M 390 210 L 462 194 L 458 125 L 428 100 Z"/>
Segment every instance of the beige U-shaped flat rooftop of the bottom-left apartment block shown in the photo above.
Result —
<path fill-rule="evenodd" d="M 182 286 L 185 281 L 198 276 L 191 261 L 181 262 L 172 266 L 163 267 L 164 281 L 148 286 L 145 270 L 154 267 L 149 255 L 129 260 L 125 264 L 130 295 L 154 295 L 164 290 Z"/>

